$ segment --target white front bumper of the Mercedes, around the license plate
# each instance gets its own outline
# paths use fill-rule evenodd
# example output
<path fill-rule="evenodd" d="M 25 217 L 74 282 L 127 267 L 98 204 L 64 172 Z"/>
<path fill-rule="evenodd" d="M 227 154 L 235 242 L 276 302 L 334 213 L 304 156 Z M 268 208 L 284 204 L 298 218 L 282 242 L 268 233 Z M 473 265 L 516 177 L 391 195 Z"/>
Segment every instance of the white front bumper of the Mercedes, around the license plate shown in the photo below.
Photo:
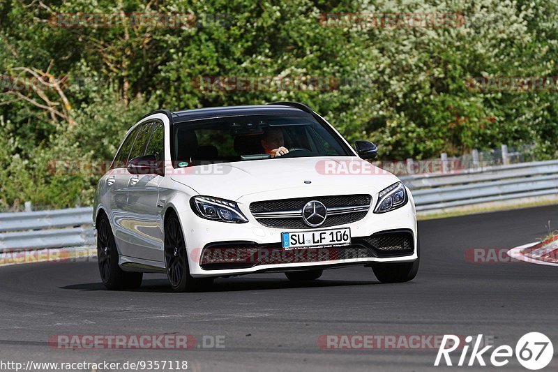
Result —
<path fill-rule="evenodd" d="M 372 206 L 375 202 L 374 198 Z M 412 262 L 418 258 L 416 214 L 412 197 L 400 209 L 374 214 L 371 208 L 360 221 L 335 226 L 334 228 L 351 229 L 350 246 L 290 251 L 282 248 L 281 233 L 301 230 L 267 228 L 250 214 L 248 203 L 239 203 L 239 207 L 248 218 L 248 223 L 207 221 L 195 216 L 188 209 L 181 211 L 181 214 L 188 214 L 182 216 L 181 221 L 192 276 L 229 276 L 305 267 L 366 265 L 370 262 Z M 397 242 L 393 243 L 393 238 L 398 236 L 407 237 L 407 242 L 399 239 L 402 249 L 391 249 L 398 245 L 395 244 Z M 384 238 L 383 244 L 378 243 L 379 237 Z M 386 243 L 385 238 L 391 239 L 392 243 Z"/>

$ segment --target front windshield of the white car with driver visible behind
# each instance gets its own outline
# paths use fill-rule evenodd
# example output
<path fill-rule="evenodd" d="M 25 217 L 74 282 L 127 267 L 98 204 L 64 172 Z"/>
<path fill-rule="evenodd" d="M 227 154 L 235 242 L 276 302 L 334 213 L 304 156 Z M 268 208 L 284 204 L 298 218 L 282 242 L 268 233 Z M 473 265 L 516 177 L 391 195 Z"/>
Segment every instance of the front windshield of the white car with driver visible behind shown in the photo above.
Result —
<path fill-rule="evenodd" d="M 309 156 L 354 156 L 314 117 L 253 115 L 174 124 L 175 167 Z"/>

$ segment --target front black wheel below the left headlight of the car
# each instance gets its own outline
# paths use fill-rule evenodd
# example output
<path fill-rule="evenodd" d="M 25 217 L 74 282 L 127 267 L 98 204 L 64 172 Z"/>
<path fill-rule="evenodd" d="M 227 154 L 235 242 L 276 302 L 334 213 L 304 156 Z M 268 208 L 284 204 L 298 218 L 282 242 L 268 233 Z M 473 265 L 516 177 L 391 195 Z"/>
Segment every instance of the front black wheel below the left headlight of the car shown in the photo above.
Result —
<path fill-rule="evenodd" d="M 213 283 L 213 278 L 194 278 L 190 275 L 182 228 L 174 213 L 165 221 L 165 267 L 175 292 L 203 290 Z"/>

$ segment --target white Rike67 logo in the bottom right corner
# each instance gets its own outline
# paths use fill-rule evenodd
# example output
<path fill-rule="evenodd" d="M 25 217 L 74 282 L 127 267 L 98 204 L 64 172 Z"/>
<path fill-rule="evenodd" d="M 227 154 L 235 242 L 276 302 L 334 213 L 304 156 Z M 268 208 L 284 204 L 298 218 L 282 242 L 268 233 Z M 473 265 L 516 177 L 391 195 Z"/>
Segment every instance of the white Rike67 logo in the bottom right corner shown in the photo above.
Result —
<path fill-rule="evenodd" d="M 464 345 L 460 345 L 460 339 L 462 340 L 462 338 L 453 334 L 444 335 L 444 338 L 442 338 L 442 344 L 440 345 L 438 354 L 436 355 L 436 360 L 434 362 L 435 366 L 440 365 L 442 358 L 442 366 L 444 365 L 444 362 L 446 366 L 453 366 L 450 353 L 458 350 L 458 348 L 460 349 L 461 354 L 459 361 L 456 364 L 457 366 L 486 366 L 486 358 L 492 366 L 502 367 L 510 362 L 510 359 L 514 354 L 514 350 L 510 345 L 500 345 L 494 350 L 491 350 L 492 352 L 489 350 L 493 345 L 481 348 L 481 342 L 483 340 L 482 334 L 479 334 L 476 339 L 473 338 L 473 336 L 465 337 Z M 469 349 L 471 350 L 471 354 L 468 356 L 467 354 L 469 353 Z M 459 352 L 455 353 L 455 356 L 457 355 L 459 355 Z M 518 343 L 515 344 L 515 357 L 526 369 L 543 369 L 545 366 L 550 364 L 552 355 L 554 355 L 554 348 L 552 347 L 550 338 L 539 332 L 524 334 L 519 339 Z"/>

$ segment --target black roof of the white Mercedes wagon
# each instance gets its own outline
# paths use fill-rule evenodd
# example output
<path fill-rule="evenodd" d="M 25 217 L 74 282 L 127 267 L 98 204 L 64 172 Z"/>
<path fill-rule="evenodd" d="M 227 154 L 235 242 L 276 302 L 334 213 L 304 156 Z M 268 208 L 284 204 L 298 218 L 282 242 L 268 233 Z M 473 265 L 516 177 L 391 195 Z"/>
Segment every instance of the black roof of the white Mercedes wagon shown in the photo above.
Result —
<path fill-rule="evenodd" d="M 195 119 L 209 119 L 212 117 L 232 117 L 242 115 L 257 115 L 257 114 L 289 114 L 294 116 L 306 116 L 312 113 L 310 107 L 301 103 L 272 103 L 270 105 L 250 105 L 250 106 L 227 106 L 227 107 L 206 107 L 193 110 L 183 110 L 170 112 L 168 110 L 157 110 L 150 112 L 145 117 L 151 114 L 164 113 L 172 118 L 172 123 L 181 123 L 183 121 L 190 121 Z M 143 119 L 143 118 L 142 118 Z"/>

